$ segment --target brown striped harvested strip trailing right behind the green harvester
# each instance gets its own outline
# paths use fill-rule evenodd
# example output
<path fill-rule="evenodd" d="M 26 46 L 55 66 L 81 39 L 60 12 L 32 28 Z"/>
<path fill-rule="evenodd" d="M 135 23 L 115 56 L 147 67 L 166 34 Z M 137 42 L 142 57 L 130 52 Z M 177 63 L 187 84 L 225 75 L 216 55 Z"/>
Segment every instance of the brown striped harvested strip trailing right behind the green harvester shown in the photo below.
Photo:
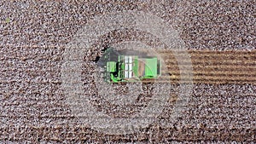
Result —
<path fill-rule="evenodd" d="M 189 78 L 193 77 L 195 84 L 256 84 L 256 50 L 234 52 L 190 50 L 192 72 L 189 69 L 191 63 L 186 60 L 184 52 L 159 51 L 158 53 L 166 66 L 166 69 L 162 70 L 160 79 L 156 80 L 160 83 L 190 83 Z M 180 71 L 181 67 L 183 71 Z M 182 81 L 181 75 L 183 75 Z"/>

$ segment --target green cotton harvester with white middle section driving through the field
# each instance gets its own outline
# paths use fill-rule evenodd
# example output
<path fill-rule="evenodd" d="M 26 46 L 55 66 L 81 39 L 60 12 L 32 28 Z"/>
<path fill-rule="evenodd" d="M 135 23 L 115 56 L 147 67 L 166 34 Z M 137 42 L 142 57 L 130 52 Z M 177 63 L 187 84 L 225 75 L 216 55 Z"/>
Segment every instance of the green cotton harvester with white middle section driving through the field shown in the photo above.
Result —
<path fill-rule="evenodd" d="M 160 76 L 160 60 L 154 56 L 113 55 L 113 49 L 107 49 L 105 81 L 108 83 L 139 82 L 143 79 Z"/>

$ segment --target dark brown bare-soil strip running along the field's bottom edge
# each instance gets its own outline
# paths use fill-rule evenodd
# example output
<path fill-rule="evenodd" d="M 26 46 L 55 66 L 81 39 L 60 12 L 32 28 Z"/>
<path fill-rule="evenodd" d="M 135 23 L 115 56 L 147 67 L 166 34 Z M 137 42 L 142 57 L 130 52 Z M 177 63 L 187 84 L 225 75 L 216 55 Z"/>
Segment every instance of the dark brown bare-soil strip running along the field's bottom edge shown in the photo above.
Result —
<path fill-rule="evenodd" d="M 20 131 L 23 130 L 23 131 Z M 201 130 L 204 133 L 201 133 Z M 230 130 L 233 133 L 225 133 L 226 130 Z M 146 131 L 141 130 L 139 133 L 136 133 L 136 137 L 131 135 L 99 135 L 94 131 L 91 131 L 87 126 L 55 126 L 55 127 L 15 127 L 9 126 L 1 128 L 1 131 L 4 131 L 1 137 L 4 137 L 6 134 L 12 133 L 15 131 L 14 136 L 10 136 L 9 140 L 11 141 L 20 141 L 20 140 L 32 140 L 30 135 L 38 134 L 40 138 L 45 141 L 101 141 L 104 143 L 105 139 L 111 139 L 111 141 L 148 141 L 150 138 L 152 141 L 208 141 L 214 137 L 218 137 L 218 141 L 252 141 L 253 140 L 253 131 L 252 128 L 240 128 L 240 127 L 207 127 L 200 125 L 199 127 L 183 126 L 179 128 L 174 126 L 173 128 L 164 128 L 157 125 L 152 126 L 149 131 L 155 132 L 155 135 L 150 135 Z M 66 133 L 62 133 L 67 131 Z M 183 131 L 189 131 L 184 133 Z M 26 133 L 24 135 L 23 133 Z M 221 135 L 220 135 L 221 134 Z M 73 135 L 76 135 L 73 137 Z M 90 135 L 90 136 L 89 136 Z M 163 136 L 165 135 L 165 136 Z M 22 139 L 20 139 L 22 137 Z M 229 137 L 227 139 L 227 137 Z M 34 140 L 36 141 L 36 140 Z"/>

